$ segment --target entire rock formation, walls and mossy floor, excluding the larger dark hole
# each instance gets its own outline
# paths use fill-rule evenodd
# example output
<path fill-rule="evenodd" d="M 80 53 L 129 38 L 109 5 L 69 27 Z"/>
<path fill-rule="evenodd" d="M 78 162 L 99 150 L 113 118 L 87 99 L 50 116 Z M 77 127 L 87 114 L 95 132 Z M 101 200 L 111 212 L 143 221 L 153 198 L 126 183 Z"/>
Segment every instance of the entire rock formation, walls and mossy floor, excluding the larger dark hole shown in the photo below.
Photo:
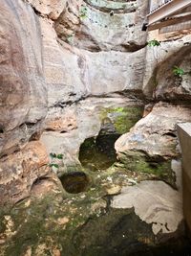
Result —
<path fill-rule="evenodd" d="M 190 35 L 147 45 L 148 1 L 0 3 L 0 255 L 173 249 L 183 235 L 176 124 L 191 121 Z M 117 163 L 82 166 L 80 146 L 111 132 Z M 69 174 L 79 194 L 61 184 Z"/>

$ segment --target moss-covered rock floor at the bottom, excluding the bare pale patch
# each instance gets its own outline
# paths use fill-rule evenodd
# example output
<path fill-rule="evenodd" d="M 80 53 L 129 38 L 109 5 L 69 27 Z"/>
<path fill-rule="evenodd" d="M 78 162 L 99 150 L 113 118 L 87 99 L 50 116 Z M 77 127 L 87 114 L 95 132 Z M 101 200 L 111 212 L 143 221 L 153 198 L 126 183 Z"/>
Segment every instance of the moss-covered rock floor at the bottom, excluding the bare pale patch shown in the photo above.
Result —
<path fill-rule="evenodd" d="M 32 256 L 53 255 L 54 248 L 61 256 L 147 255 L 144 250 L 155 251 L 156 237 L 151 225 L 140 221 L 134 209 L 110 207 L 107 189 L 125 185 L 128 182 L 125 173 L 124 168 L 113 166 L 98 175 L 92 173 L 91 187 L 86 192 L 76 195 L 53 192 L 45 198 L 17 204 L 1 216 L 3 220 L 10 215 L 13 222 L 2 255 L 23 256 L 28 248 L 32 248 Z M 4 226 L 2 233 L 5 229 Z M 43 244 L 44 249 L 37 253 Z M 164 251 L 163 255 L 169 254 Z"/>

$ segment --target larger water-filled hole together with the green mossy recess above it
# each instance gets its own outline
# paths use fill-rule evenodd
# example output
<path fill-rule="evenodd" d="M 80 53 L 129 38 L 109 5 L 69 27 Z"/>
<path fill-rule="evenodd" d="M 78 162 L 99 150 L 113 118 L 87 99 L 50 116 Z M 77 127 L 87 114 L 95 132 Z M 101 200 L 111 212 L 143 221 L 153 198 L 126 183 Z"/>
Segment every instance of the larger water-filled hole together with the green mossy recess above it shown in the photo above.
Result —
<path fill-rule="evenodd" d="M 142 117 L 142 106 L 115 106 L 100 110 L 101 128 L 96 137 L 87 138 L 80 146 L 79 161 L 88 171 L 101 171 L 117 162 L 115 143 Z"/>

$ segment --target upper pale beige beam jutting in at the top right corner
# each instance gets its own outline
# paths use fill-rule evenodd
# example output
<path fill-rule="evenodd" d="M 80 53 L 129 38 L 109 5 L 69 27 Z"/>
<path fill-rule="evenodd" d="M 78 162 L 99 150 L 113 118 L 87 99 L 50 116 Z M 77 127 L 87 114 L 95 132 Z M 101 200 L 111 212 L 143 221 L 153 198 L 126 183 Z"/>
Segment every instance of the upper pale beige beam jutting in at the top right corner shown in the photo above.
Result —
<path fill-rule="evenodd" d="M 155 22 L 159 22 L 165 17 L 169 17 L 176 12 L 180 12 L 180 10 L 188 7 L 189 5 L 191 5 L 191 0 L 173 0 L 160 6 L 157 10 L 147 15 L 148 27 Z"/>

